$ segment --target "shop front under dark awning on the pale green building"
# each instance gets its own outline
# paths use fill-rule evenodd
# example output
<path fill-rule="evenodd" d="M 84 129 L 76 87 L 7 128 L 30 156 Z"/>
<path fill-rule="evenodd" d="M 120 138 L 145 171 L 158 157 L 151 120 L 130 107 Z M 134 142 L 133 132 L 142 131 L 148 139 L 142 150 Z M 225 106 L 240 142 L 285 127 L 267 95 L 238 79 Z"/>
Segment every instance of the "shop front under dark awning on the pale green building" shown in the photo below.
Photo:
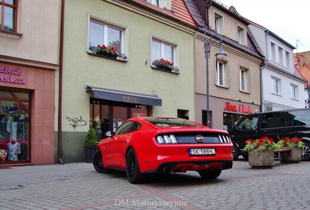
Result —
<path fill-rule="evenodd" d="M 97 140 L 104 138 L 108 130 L 115 131 L 125 120 L 150 116 L 153 105 L 161 106 L 161 98 L 135 92 L 85 86 L 92 91 L 90 98 L 90 127 L 94 127 Z"/>

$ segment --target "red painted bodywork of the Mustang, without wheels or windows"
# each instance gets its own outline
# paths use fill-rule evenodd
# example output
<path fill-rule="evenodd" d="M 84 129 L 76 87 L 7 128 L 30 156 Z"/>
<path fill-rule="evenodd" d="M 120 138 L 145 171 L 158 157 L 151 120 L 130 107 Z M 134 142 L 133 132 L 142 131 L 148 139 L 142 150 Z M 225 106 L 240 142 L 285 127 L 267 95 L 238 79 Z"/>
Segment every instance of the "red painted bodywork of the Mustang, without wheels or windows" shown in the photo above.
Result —
<path fill-rule="evenodd" d="M 104 167 L 125 170 L 126 152 L 134 148 L 141 173 L 158 171 L 162 164 L 171 166 L 169 172 L 223 170 L 224 164 L 232 165 L 232 142 L 228 143 L 158 143 L 158 134 L 211 133 L 224 134 L 224 130 L 203 127 L 158 127 L 146 122 L 147 118 L 129 119 L 141 126 L 134 132 L 108 137 L 99 142 Z M 200 125 L 200 124 L 199 124 Z M 190 148 L 214 148 L 215 155 L 190 156 Z M 204 163 L 204 164 L 200 164 Z M 228 168 L 231 168 L 228 167 Z"/>

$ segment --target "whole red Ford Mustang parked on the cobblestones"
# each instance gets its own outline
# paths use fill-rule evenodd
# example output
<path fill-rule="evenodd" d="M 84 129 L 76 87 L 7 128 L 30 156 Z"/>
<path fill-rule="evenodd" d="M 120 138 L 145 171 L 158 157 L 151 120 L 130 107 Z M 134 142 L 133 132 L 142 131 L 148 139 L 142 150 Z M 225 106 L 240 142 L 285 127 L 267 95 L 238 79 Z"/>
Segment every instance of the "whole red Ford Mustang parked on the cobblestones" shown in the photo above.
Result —
<path fill-rule="evenodd" d="M 223 130 L 179 118 L 132 118 L 99 142 L 93 156 L 97 172 L 126 171 L 131 183 L 150 173 L 197 171 L 216 178 L 232 168 L 232 141 Z"/>

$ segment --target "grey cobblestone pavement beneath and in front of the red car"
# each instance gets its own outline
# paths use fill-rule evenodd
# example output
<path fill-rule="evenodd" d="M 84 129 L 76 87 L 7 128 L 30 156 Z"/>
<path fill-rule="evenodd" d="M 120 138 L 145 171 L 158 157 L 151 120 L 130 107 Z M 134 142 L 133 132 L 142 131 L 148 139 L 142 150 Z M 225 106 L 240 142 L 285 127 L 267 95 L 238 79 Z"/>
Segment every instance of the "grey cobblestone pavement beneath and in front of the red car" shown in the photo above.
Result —
<path fill-rule="evenodd" d="M 0 167 L 0 210 L 309 210 L 310 162 L 252 169 L 244 159 L 214 180 L 196 172 L 130 184 L 90 163 Z"/>

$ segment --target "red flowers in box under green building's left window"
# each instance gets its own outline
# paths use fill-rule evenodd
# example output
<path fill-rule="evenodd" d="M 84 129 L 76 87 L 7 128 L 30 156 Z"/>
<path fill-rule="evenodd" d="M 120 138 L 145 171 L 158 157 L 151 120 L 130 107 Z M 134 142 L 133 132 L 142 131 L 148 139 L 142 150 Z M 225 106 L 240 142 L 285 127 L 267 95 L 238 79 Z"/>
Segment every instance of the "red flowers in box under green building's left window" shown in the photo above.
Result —
<path fill-rule="evenodd" d="M 90 53 L 96 54 L 96 55 L 102 55 L 105 57 L 110 57 L 118 60 L 126 60 L 127 56 L 124 54 L 120 54 L 117 52 L 115 47 L 106 47 L 105 45 L 97 45 L 95 46 L 90 46 L 89 47 Z"/>

